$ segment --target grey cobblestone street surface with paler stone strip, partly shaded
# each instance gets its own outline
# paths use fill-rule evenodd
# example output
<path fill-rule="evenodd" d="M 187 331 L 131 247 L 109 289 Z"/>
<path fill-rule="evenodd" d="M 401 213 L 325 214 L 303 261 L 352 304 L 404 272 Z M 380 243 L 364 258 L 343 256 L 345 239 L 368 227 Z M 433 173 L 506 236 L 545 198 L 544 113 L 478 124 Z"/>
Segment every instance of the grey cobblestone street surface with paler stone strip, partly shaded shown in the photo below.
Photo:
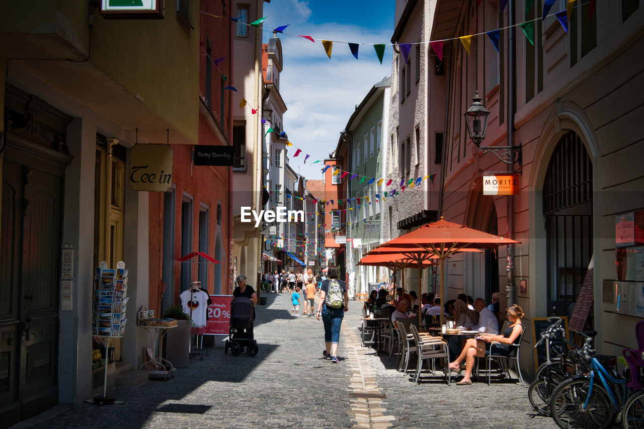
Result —
<path fill-rule="evenodd" d="M 124 405 L 61 406 L 59 414 L 43 414 L 30 421 L 30 427 L 556 427 L 551 418 L 533 414 L 527 386 L 513 380 L 448 386 L 443 377 L 425 377 L 415 386 L 395 370 L 395 357 L 390 360 L 361 347 L 360 307 L 361 303 L 349 303 L 339 364 L 322 356 L 322 322 L 290 316 L 290 297 L 269 294 L 268 305 L 256 307 L 257 356 L 224 354 L 223 342 L 217 341 L 210 356 L 191 359 L 173 379 L 110 390 L 108 394 Z"/>

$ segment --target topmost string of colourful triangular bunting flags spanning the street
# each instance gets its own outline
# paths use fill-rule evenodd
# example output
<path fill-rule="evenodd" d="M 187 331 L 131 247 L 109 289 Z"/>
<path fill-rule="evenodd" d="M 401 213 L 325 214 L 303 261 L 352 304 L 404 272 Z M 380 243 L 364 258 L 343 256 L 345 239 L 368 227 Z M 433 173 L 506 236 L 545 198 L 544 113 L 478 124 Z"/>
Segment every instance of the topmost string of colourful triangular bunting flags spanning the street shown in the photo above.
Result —
<path fill-rule="evenodd" d="M 500 8 L 501 12 L 503 12 L 503 10 L 506 8 L 507 1 L 508 0 L 500 0 L 499 8 Z M 541 16 L 542 20 L 544 20 L 548 16 L 556 15 L 556 14 L 549 14 L 551 8 L 553 8 L 553 6 L 554 6 L 555 1 L 556 0 L 545 0 L 544 1 L 544 8 L 543 8 L 543 11 L 542 11 L 542 16 Z M 478 0 L 477 6 L 480 5 L 480 3 L 482 3 L 482 0 Z M 592 21 L 592 18 L 594 17 L 596 3 L 597 3 L 597 0 L 588 0 L 587 3 L 583 3 L 584 5 L 586 5 L 586 4 L 589 5 L 589 11 L 588 12 L 589 12 L 589 17 L 590 17 L 591 21 Z M 580 7 L 582 5 L 577 4 L 576 0 L 566 0 L 565 4 L 566 4 L 567 19 L 568 19 L 568 22 L 569 22 L 570 21 L 570 15 L 572 14 L 573 8 Z M 527 14 L 527 11 L 531 7 L 533 7 L 533 5 L 534 5 L 534 0 L 526 0 L 526 7 L 525 7 L 526 14 Z M 249 23 L 241 22 L 240 17 L 226 18 L 224 16 L 214 15 L 214 14 L 210 14 L 210 13 L 204 12 L 204 11 L 200 11 L 200 13 L 205 14 L 205 15 L 209 15 L 209 16 L 212 16 L 212 17 L 228 19 L 229 21 L 232 21 L 232 22 L 234 22 L 234 23 L 236 23 L 238 25 L 253 26 L 253 27 L 261 28 L 262 31 L 277 32 L 277 33 L 286 34 L 286 35 L 292 35 L 292 36 L 296 36 L 296 37 L 303 37 L 305 39 L 308 39 L 308 40 L 312 41 L 313 43 L 315 43 L 316 40 L 321 41 L 322 44 L 323 44 L 323 48 L 325 49 L 325 52 L 327 53 L 329 58 L 331 57 L 332 46 L 333 46 L 334 43 L 346 43 L 346 44 L 348 44 L 350 52 L 355 57 L 355 59 L 358 59 L 357 53 L 358 53 L 359 45 L 361 45 L 361 44 L 371 45 L 371 46 L 374 46 L 376 55 L 377 55 L 378 60 L 380 61 L 381 64 L 383 63 L 384 50 L 385 50 L 386 46 L 395 46 L 395 45 L 399 46 L 399 48 L 401 50 L 401 53 L 403 54 L 404 60 L 407 61 L 412 45 L 414 45 L 414 44 L 428 45 L 429 44 L 431 46 L 431 49 L 433 50 L 433 52 L 439 58 L 439 60 L 442 61 L 442 47 L 443 47 L 442 45 L 443 45 L 444 42 L 455 41 L 455 40 L 459 39 L 460 42 L 463 44 L 464 48 L 466 49 L 466 51 L 468 52 L 468 55 L 469 55 L 471 39 L 473 37 L 486 34 L 486 35 L 488 35 L 488 37 L 490 37 L 492 39 L 492 37 L 493 37 L 493 35 L 495 35 L 495 33 L 500 32 L 502 30 L 507 30 L 508 28 L 511 28 L 513 26 L 515 26 L 515 27 L 520 26 L 524 30 L 524 33 L 526 33 L 526 27 L 529 28 L 529 25 L 524 25 L 524 24 L 527 24 L 527 23 L 533 23 L 534 24 L 534 22 L 538 20 L 538 18 L 532 19 L 532 20 L 528 20 L 526 18 L 526 21 L 524 23 L 516 23 L 516 24 L 513 24 L 512 26 L 504 26 L 504 27 L 501 27 L 501 28 L 497 28 L 495 30 L 488 30 L 488 31 L 480 32 L 480 33 L 462 35 L 460 37 L 449 37 L 449 38 L 446 38 L 446 39 L 437 39 L 437 40 L 432 40 L 432 41 L 396 44 L 396 43 L 365 43 L 365 42 L 357 42 L 357 43 L 354 42 L 354 43 L 352 43 L 352 42 L 346 42 L 346 41 L 334 41 L 334 40 L 328 40 L 328 39 L 317 39 L 317 38 L 314 38 L 314 37 L 312 37 L 310 35 L 301 35 L 301 34 L 285 32 L 284 30 L 288 26 L 290 26 L 290 24 L 281 25 L 281 26 L 273 28 L 272 30 L 270 28 L 264 28 L 263 26 L 261 26 L 261 24 L 263 23 L 263 21 L 265 19 L 267 19 L 267 17 L 261 17 L 260 19 L 258 19 L 256 21 L 253 21 L 252 23 L 249 24 Z M 563 23 L 562 23 L 562 25 L 563 25 Z M 492 40 L 492 42 L 495 43 L 494 40 Z M 531 40 L 531 43 L 534 44 L 534 39 Z M 498 44 L 497 43 L 495 43 L 495 48 L 497 48 L 497 50 L 498 50 Z M 223 61 L 223 59 L 225 59 L 225 57 L 222 58 L 222 61 Z"/>

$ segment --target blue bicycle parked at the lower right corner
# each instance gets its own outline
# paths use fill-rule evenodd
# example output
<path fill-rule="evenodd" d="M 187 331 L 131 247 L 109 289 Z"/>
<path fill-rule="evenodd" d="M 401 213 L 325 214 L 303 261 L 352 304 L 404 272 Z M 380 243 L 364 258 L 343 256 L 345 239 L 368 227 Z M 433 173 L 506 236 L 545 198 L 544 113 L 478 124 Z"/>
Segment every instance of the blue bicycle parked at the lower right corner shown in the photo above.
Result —
<path fill-rule="evenodd" d="M 609 372 L 595 356 L 591 341 L 586 336 L 577 351 L 589 370 L 562 382 L 553 392 L 550 412 L 560 428 L 608 428 L 632 395 L 628 373 L 620 377 L 614 370 Z"/>

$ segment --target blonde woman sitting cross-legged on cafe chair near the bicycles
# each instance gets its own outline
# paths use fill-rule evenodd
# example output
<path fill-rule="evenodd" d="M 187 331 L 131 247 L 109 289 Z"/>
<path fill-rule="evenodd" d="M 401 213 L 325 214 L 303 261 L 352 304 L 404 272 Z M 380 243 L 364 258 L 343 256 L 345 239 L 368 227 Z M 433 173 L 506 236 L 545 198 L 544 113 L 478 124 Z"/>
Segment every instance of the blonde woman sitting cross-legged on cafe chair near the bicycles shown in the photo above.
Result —
<path fill-rule="evenodd" d="M 450 369 L 459 370 L 460 363 L 465 361 L 465 376 L 456 383 L 457 385 L 472 384 L 470 377 L 472 375 L 472 368 L 474 367 L 474 357 L 484 357 L 486 354 L 489 354 L 491 343 L 500 344 L 498 347 L 495 347 L 495 353 L 508 354 L 509 345 L 516 344 L 519 341 L 524 330 L 524 326 L 521 324 L 521 319 L 524 317 L 523 310 L 516 304 L 510 305 L 507 307 L 506 316 L 510 325 L 503 331 L 502 335 L 480 334 L 477 338 L 468 339 L 459 357 L 450 363 Z"/>

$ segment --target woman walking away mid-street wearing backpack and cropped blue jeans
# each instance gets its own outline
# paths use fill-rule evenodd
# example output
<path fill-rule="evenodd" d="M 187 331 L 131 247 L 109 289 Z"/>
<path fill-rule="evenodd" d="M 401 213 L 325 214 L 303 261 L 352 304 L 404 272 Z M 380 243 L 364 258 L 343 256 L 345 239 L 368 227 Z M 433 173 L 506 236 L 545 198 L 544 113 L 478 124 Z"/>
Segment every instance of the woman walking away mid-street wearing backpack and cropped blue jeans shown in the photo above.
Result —
<path fill-rule="evenodd" d="M 328 279 L 320 287 L 319 304 L 316 318 L 322 316 L 324 322 L 325 350 L 322 352 L 332 363 L 339 363 L 337 343 L 340 341 L 340 326 L 348 311 L 349 292 L 344 281 L 339 280 L 339 270 L 336 266 L 328 267 Z"/>

